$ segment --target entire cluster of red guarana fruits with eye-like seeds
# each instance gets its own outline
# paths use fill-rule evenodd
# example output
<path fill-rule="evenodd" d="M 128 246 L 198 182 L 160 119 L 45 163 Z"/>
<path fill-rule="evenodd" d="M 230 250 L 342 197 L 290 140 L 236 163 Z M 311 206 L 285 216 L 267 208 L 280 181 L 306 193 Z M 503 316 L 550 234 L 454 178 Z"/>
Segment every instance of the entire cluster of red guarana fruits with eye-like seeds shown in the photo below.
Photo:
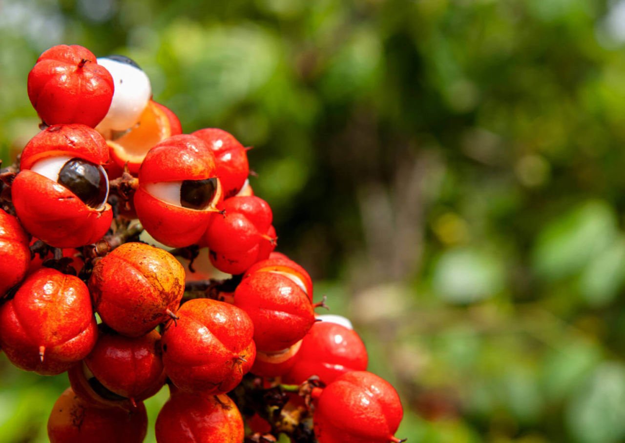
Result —
<path fill-rule="evenodd" d="M 27 89 L 42 123 L 0 171 L 0 348 L 68 373 L 51 442 L 143 441 L 164 384 L 159 443 L 400 441 L 397 392 L 274 251 L 236 138 L 183 134 L 134 61 L 81 46 L 43 52 Z M 232 277 L 194 273 L 197 254 Z"/>

